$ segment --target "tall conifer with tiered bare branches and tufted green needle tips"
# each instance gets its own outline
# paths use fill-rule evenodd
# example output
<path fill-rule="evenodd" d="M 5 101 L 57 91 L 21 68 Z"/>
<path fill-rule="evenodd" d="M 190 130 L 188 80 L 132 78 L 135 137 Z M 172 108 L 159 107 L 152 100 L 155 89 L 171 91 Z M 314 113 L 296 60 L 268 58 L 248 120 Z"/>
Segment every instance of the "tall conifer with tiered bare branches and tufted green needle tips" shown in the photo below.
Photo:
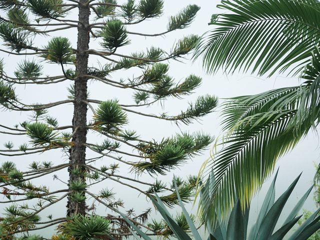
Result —
<path fill-rule="evenodd" d="M 113 239 L 111 236 L 122 239 L 130 234 L 129 226 L 119 212 L 119 206 L 126 205 L 116 200 L 111 186 L 99 192 L 90 191 L 92 185 L 105 179 L 134 188 L 137 194 L 148 198 L 154 197 L 154 192 L 161 193 L 161 200 L 168 206 L 177 204 L 172 184 L 167 185 L 160 180 L 143 182 L 135 176 L 167 174 L 205 149 L 212 137 L 202 132 L 175 135 L 164 132 L 162 140 L 145 140 L 128 128 L 127 113 L 189 124 L 212 112 L 217 99 L 211 95 L 198 97 L 185 110 L 178 109 L 180 113 L 176 115 L 148 114 L 136 110 L 169 97 L 182 98 L 200 85 L 201 78 L 193 74 L 181 81 L 174 80 L 168 74 L 168 60 L 184 57 L 194 48 L 199 37 L 191 34 L 178 39 L 169 51 L 150 47 L 143 52 L 121 53 L 121 47 L 130 44 L 130 35 L 162 36 L 187 27 L 199 7 L 186 6 L 169 18 L 164 32 L 157 34 L 132 32 L 129 28 L 161 16 L 163 0 L 127 0 L 123 4 L 118 4 L 116 0 L 0 0 L 0 8 L 0 50 L 6 54 L 0 62 L 0 104 L 5 110 L 32 112 L 31 118 L 19 119 L 12 123 L 15 125 L 0 125 L 2 140 L 6 135 L 22 135 L 28 142 L 15 148 L 12 141 L 6 141 L 5 149 L 0 150 L 0 154 L 35 154 L 39 157 L 39 161 L 30 163 L 27 171 L 18 169 L 14 157 L 12 161 L 1 163 L 1 194 L 7 198 L 1 204 L 10 203 L 4 207 L 5 213 L 0 218 L 2 237 L 11 238 L 15 233 L 57 225 L 58 235 L 54 239 Z M 70 19 L 69 16 L 75 12 L 78 19 Z M 66 29 L 77 30 L 76 46 L 72 46 L 69 36 L 65 35 Z M 99 42 L 99 49 L 90 48 L 92 40 Z M 38 42 L 45 44 L 41 46 Z M 5 64 L 12 55 L 22 59 L 13 73 L 6 72 Z M 96 62 L 89 62 L 89 56 L 90 59 L 96 57 Z M 43 66 L 49 63 L 57 65 L 60 74 L 44 72 Z M 126 80 L 112 77 L 114 73 L 129 68 L 140 69 L 140 74 Z M 70 94 L 66 100 L 30 104 L 19 99 L 15 91 L 18 85 L 27 88 L 30 84 L 65 81 L 70 82 Z M 132 92 L 134 103 L 124 105 L 120 103 L 121 99 L 107 97 L 92 99 L 88 95 L 88 81 L 103 82 L 109 88 Z M 58 119 L 50 116 L 48 109 L 70 103 L 73 103 L 72 124 L 59 126 Z M 87 140 L 89 132 L 99 134 L 98 143 Z M 131 149 L 128 150 L 128 147 Z M 41 159 L 40 153 L 53 149 L 60 149 L 69 161 L 54 164 Z M 86 157 L 88 151 L 96 156 Z M 101 158 L 114 163 L 93 165 Z M 120 169 L 123 165 L 128 166 L 131 174 L 127 169 Z M 69 177 L 65 189 L 49 191 L 48 186 L 38 184 L 40 177 L 54 173 L 54 178 L 59 179 L 55 173 L 66 170 Z M 196 177 L 177 178 L 177 185 L 182 200 L 188 201 L 194 192 Z M 53 218 L 49 215 L 49 220 L 40 220 L 42 210 L 65 198 L 64 217 Z M 32 206 L 28 205 L 29 201 Z M 104 205 L 109 214 L 99 216 L 90 205 L 92 201 Z M 147 223 L 149 212 L 150 208 L 134 215 L 128 210 L 126 216 L 150 234 L 171 234 L 163 222 L 153 220 Z M 184 220 L 180 219 L 181 224 Z"/>

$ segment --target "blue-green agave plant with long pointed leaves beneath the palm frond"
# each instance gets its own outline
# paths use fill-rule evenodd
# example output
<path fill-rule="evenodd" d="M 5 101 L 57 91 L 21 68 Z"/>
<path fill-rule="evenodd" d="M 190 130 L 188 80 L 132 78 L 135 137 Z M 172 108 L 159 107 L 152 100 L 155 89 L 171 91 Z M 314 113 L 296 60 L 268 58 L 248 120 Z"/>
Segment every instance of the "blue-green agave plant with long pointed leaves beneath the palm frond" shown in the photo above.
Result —
<path fill-rule="evenodd" d="M 301 209 L 304 201 L 309 195 L 313 186 L 311 186 L 304 195 L 299 199 L 296 205 L 292 208 L 289 215 L 286 217 L 283 224 L 275 230 L 275 226 L 278 222 L 279 216 L 285 203 L 287 202 L 288 197 L 292 193 L 293 188 L 295 187 L 300 175 L 295 178 L 295 180 L 290 184 L 288 189 L 282 193 L 282 195 L 275 201 L 275 177 L 266 193 L 264 201 L 262 203 L 260 212 L 255 220 L 255 223 L 248 230 L 248 216 L 249 216 L 249 205 L 241 206 L 240 201 L 237 200 L 236 204 L 233 206 L 228 221 L 219 220 L 217 224 L 215 223 L 216 216 L 219 216 L 216 212 L 206 211 L 207 214 L 203 214 L 204 222 L 206 224 L 206 229 L 209 233 L 207 240 L 281 240 L 285 237 L 288 237 L 288 232 L 293 228 L 298 219 L 302 216 L 296 216 L 299 210 Z M 208 178 L 207 182 L 203 185 L 200 192 L 200 202 L 201 197 L 203 196 L 204 191 L 212 191 L 214 187 L 214 177 Z M 186 221 L 189 225 L 190 233 L 186 233 L 178 224 L 174 221 L 174 218 L 169 213 L 167 208 L 164 206 L 160 198 L 155 194 L 155 199 L 151 198 L 153 204 L 157 210 L 162 215 L 166 224 L 170 227 L 175 237 L 178 240 L 202 240 L 200 233 L 197 230 L 197 227 L 194 225 L 191 220 L 190 215 L 183 206 L 177 187 L 175 185 L 175 190 L 177 197 L 182 208 L 182 212 L 185 215 Z M 205 209 L 205 206 L 201 206 L 202 210 Z M 317 229 L 320 228 L 320 216 L 318 213 L 320 208 L 317 209 L 309 218 L 307 218 L 295 231 L 287 238 L 288 240 L 306 240 L 311 236 Z M 208 214 L 210 213 L 210 214 Z M 132 227 L 131 232 L 135 239 L 145 239 L 151 240 L 151 238 L 140 228 L 134 225 L 124 214 L 122 217 L 127 221 L 127 223 Z M 224 219 L 224 218 L 223 218 Z M 212 227 L 213 226 L 213 227 Z"/>

